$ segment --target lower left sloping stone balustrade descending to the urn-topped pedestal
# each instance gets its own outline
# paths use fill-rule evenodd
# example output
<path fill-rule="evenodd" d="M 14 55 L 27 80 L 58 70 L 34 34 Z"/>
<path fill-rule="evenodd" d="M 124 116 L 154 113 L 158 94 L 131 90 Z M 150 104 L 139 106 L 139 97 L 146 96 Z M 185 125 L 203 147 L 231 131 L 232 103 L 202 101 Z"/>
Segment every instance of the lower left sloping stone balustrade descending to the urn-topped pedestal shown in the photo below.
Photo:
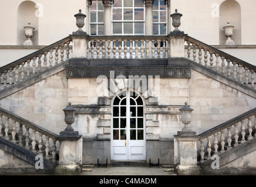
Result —
<path fill-rule="evenodd" d="M 0 137 L 5 140 L 12 141 L 33 153 L 56 162 L 56 141 L 63 138 L 58 134 L 3 108 L 0 108 L 0 129 Z"/>

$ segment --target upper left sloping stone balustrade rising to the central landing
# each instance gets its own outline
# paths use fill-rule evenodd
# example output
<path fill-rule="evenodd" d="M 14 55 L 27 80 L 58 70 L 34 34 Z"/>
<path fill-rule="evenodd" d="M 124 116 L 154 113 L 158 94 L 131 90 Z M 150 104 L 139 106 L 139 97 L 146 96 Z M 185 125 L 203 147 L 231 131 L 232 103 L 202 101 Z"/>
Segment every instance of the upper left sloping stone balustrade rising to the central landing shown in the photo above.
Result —
<path fill-rule="evenodd" d="M 8 88 L 33 75 L 48 70 L 53 65 L 69 59 L 72 41 L 70 36 L 65 37 L 49 46 L 29 54 L 19 60 L 0 68 L 0 90 Z"/>

